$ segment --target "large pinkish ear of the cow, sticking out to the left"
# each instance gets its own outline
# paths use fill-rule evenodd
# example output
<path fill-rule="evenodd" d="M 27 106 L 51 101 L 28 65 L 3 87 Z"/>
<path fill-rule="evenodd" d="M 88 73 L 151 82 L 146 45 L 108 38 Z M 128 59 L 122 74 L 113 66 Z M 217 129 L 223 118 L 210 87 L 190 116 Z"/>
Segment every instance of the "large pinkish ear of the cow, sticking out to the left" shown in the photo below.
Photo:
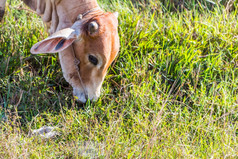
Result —
<path fill-rule="evenodd" d="M 69 47 L 77 38 L 74 29 L 66 28 L 33 45 L 31 53 L 57 53 Z"/>

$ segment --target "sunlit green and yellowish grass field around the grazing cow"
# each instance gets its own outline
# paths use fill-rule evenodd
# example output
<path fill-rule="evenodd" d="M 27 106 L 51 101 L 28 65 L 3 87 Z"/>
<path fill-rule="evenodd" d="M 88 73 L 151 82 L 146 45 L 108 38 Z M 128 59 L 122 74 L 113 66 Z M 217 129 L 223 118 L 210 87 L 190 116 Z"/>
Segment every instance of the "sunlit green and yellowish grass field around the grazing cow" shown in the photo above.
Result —
<path fill-rule="evenodd" d="M 57 54 L 29 52 L 47 37 L 41 19 L 8 0 L 0 23 L 0 158 L 238 158 L 236 4 L 100 5 L 119 12 L 121 49 L 100 98 L 81 106 Z M 29 135 L 45 125 L 59 135 Z"/>

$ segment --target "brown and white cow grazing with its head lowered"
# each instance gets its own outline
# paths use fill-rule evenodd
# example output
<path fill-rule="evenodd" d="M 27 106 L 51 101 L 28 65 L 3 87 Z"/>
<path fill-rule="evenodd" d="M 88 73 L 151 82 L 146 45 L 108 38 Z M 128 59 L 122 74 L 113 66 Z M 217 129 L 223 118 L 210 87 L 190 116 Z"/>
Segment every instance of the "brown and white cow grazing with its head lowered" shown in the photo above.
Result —
<path fill-rule="evenodd" d="M 0 19 L 6 0 L 0 2 Z M 97 0 L 23 0 L 46 23 L 49 37 L 32 54 L 59 53 L 65 80 L 79 103 L 96 100 L 107 69 L 119 52 L 118 13 Z"/>

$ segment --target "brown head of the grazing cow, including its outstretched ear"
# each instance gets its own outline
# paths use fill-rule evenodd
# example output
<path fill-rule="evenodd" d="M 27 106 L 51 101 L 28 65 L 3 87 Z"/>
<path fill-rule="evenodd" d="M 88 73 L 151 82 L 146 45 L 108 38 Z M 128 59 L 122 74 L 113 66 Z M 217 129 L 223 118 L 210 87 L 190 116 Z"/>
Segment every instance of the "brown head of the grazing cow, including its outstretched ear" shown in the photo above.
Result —
<path fill-rule="evenodd" d="M 81 103 L 96 100 L 107 69 L 119 51 L 117 13 L 103 13 L 78 19 L 70 28 L 57 31 L 31 48 L 33 54 L 64 53 L 73 58 L 61 61 L 64 77 L 72 85 L 74 96 Z M 79 60 L 75 63 L 74 60 Z M 65 60 L 66 61 L 66 60 Z M 66 68 L 66 65 L 76 65 Z M 64 69 L 66 68 L 66 69 Z"/>

